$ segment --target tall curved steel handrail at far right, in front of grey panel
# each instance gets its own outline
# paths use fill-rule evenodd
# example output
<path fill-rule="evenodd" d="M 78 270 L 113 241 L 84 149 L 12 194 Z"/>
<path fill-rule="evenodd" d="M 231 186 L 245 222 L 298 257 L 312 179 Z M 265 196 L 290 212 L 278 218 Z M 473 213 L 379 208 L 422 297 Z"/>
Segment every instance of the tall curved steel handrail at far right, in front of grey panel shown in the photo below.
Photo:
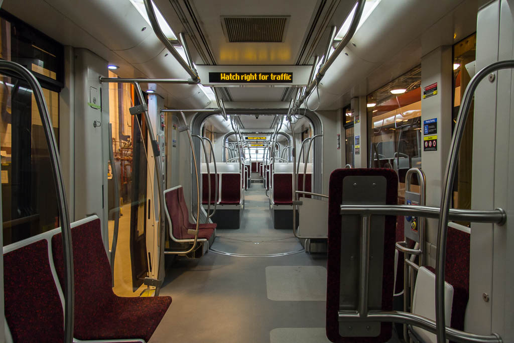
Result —
<path fill-rule="evenodd" d="M 450 155 L 445 171 L 445 185 L 441 197 L 441 212 L 439 215 L 439 227 L 437 230 L 437 258 L 436 258 L 436 274 L 435 274 L 435 319 L 437 324 L 437 341 L 439 343 L 446 342 L 446 332 L 444 328 L 445 321 L 445 260 L 446 260 L 446 240 L 448 234 L 448 215 L 450 211 L 450 201 L 452 198 L 453 181 L 457 168 L 458 152 L 461 147 L 464 128 L 471 107 L 471 101 L 476 87 L 486 76 L 500 69 L 514 68 L 514 60 L 499 61 L 491 63 L 484 67 L 471 78 L 464 91 L 461 101 L 461 107 L 458 110 L 457 123 L 451 140 Z"/>

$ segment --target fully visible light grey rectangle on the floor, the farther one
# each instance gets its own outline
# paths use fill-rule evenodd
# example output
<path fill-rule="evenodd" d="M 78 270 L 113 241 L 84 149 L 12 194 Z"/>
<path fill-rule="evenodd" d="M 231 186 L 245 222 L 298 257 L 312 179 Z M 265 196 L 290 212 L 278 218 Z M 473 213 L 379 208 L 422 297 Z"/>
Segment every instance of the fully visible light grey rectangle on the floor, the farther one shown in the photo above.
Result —
<path fill-rule="evenodd" d="M 326 268 L 322 266 L 267 266 L 269 300 L 325 301 Z"/>

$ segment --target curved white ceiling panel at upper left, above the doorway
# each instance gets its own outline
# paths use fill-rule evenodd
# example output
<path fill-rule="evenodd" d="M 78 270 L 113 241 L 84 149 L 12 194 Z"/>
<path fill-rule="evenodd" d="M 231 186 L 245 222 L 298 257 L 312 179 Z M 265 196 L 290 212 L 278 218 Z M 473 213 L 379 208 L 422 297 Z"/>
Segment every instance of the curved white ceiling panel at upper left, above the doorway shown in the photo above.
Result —
<path fill-rule="evenodd" d="M 130 1 L 8 0 L 3 8 L 64 45 L 87 48 L 119 65 L 120 77 L 189 77 L 171 54 L 164 57 L 168 51 Z M 210 102 L 196 85 L 159 86 L 157 92 L 175 108 Z"/>

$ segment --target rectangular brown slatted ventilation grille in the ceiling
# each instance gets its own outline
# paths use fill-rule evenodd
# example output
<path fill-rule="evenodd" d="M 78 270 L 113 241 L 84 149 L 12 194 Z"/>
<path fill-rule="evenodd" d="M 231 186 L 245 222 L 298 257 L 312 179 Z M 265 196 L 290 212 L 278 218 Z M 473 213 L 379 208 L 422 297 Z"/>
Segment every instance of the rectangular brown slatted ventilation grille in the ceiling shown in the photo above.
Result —
<path fill-rule="evenodd" d="M 282 42 L 288 16 L 222 16 L 230 43 Z"/>

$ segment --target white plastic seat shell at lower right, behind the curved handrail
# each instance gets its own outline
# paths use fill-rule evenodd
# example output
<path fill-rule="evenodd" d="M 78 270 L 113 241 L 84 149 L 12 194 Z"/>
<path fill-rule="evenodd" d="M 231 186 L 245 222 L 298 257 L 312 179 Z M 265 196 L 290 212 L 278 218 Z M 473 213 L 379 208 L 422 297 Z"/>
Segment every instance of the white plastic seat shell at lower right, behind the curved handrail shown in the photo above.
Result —
<path fill-rule="evenodd" d="M 418 314 L 428 319 L 435 320 L 435 274 L 426 267 L 419 267 L 414 287 L 414 297 L 412 300 L 412 313 Z M 450 325 L 452 316 L 453 287 L 445 282 L 445 318 L 446 325 Z M 423 329 L 413 327 L 413 330 L 421 341 L 427 343 L 437 343 L 435 334 Z"/>

